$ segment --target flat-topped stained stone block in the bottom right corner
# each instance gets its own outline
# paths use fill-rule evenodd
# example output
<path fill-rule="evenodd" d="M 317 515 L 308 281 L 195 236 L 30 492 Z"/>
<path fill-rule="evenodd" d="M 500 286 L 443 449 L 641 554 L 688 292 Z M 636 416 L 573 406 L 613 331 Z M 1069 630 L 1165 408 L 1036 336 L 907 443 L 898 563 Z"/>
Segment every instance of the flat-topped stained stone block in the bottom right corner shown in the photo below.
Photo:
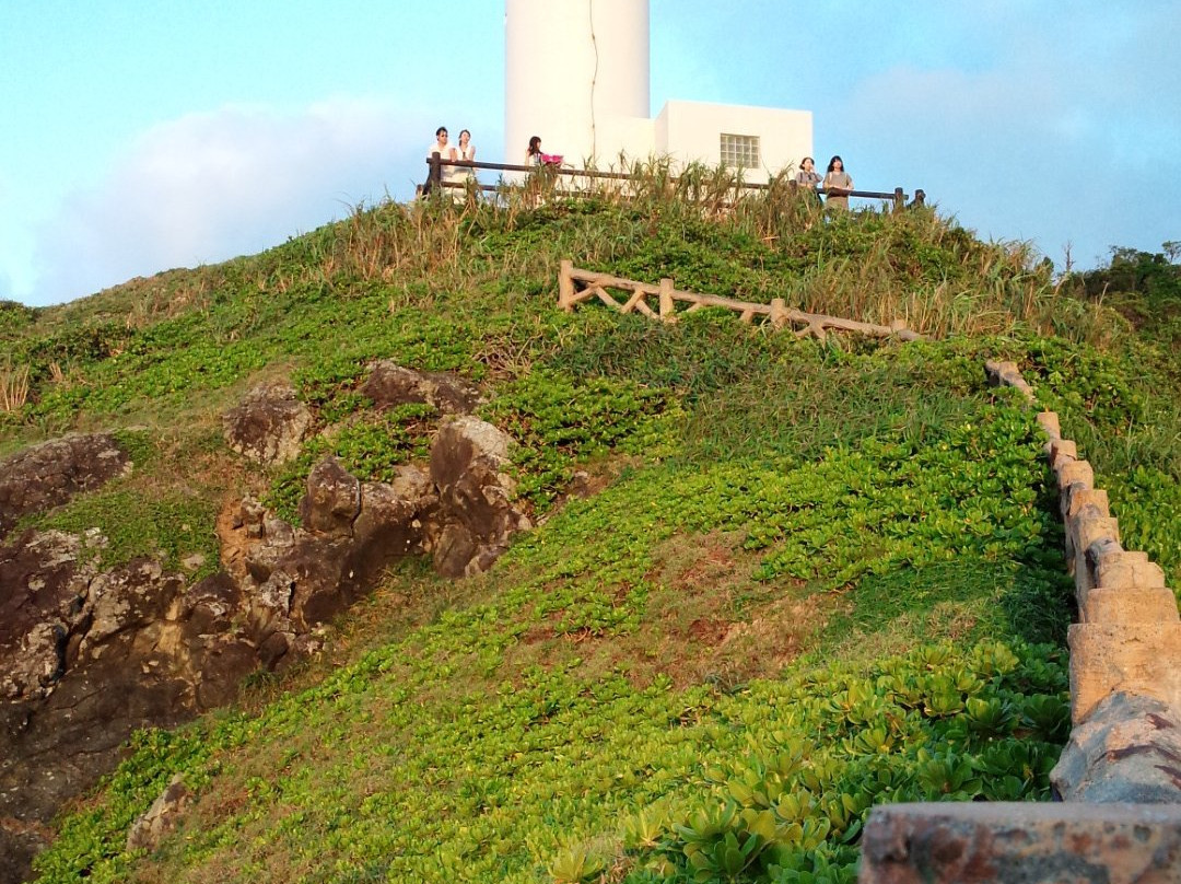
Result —
<path fill-rule="evenodd" d="M 874 807 L 860 884 L 1173 884 L 1181 806 L 937 802 Z"/>

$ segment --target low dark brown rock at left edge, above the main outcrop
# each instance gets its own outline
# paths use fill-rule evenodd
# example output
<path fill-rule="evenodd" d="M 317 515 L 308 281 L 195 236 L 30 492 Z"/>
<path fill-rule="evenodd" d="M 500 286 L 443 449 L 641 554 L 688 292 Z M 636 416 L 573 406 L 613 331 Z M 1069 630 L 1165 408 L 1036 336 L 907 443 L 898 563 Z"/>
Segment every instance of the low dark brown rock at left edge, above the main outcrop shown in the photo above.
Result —
<path fill-rule="evenodd" d="M 115 436 L 67 436 L 0 461 L 0 540 L 26 513 L 65 503 L 130 468 Z"/>

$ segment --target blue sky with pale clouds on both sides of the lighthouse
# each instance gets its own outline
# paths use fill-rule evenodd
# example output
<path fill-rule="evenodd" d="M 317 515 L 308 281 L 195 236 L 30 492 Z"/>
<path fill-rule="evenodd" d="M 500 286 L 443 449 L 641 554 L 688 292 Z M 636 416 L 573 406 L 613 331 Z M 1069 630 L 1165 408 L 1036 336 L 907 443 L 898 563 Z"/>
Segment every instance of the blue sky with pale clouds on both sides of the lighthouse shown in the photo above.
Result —
<path fill-rule="evenodd" d="M 922 188 L 1059 271 L 1181 240 L 1176 0 L 650 8 L 653 116 L 810 110 L 818 165 Z M 410 199 L 438 125 L 507 161 L 503 0 L 0 0 L 0 300 L 70 301 Z"/>

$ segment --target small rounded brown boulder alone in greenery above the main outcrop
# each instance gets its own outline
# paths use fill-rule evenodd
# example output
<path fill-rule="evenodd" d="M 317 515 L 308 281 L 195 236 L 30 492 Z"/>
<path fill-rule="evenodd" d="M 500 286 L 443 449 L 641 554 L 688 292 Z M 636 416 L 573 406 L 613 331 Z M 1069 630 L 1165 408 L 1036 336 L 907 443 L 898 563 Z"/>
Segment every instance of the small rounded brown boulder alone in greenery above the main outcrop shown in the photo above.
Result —
<path fill-rule="evenodd" d="M 250 390 L 223 418 L 226 443 L 256 463 L 285 463 L 299 454 L 312 412 L 288 384 Z"/>

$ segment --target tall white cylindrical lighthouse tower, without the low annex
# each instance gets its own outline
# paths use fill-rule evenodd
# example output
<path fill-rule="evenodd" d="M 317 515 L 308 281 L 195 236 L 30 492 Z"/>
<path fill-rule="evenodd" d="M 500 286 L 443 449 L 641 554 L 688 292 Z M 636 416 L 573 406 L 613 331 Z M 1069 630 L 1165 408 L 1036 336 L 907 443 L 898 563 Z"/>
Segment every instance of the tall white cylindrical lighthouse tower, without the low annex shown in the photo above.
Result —
<path fill-rule="evenodd" d="M 648 0 L 505 0 L 504 158 L 647 156 Z"/>

